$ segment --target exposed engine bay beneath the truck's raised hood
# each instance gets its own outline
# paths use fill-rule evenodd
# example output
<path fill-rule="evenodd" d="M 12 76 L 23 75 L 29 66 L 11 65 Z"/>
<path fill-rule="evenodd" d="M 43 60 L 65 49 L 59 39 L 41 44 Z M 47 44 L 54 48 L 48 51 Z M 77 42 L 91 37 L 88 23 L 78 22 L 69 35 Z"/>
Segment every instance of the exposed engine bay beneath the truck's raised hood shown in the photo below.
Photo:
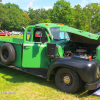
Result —
<path fill-rule="evenodd" d="M 69 41 L 64 47 L 64 56 L 80 59 L 95 59 L 98 44 Z"/>

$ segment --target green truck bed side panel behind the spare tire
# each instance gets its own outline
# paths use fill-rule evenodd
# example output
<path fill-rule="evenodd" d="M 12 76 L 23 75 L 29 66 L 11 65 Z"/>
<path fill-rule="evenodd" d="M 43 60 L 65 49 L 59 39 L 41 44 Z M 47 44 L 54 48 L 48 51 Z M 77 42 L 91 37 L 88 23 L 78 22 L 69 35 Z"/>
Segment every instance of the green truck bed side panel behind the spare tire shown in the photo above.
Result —
<path fill-rule="evenodd" d="M 2 44 L 4 43 L 10 43 L 13 45 L 14 49 L 15 49 L 15 55 L 16 55 L 16 59 L 15 61 L 12 63 L 13 66 L 17 66 L 17 67 L 22 67 L 22 47 L 23 47 L 23 39 L 21 38 L 2 38 L 0 39 L 0 46 L 2 46 Z M 0 63 L 2 63 L 2 61 L 0 60 Z"/>

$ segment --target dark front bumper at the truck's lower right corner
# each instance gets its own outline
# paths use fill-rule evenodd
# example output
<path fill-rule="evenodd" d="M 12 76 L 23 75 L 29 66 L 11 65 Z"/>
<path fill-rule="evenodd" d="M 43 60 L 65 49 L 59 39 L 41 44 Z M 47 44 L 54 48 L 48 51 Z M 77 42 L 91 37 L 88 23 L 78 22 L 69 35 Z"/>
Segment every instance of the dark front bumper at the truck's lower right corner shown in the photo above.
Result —
<path fill-rule="evenodd" d="M 87 90 L 95 90 L 100 87 L 100 79 L 94 83 L 87 83 L 86 89 Z"/>

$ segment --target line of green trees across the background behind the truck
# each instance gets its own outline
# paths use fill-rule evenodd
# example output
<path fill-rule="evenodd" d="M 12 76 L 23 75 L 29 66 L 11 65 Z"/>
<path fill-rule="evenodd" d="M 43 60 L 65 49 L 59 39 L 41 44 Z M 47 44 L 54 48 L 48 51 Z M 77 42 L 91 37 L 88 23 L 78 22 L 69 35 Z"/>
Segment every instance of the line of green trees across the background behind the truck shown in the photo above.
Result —
<path fill-rule="evenodd" d="M 21 30 L 22 26 L 38 23 L 63 23 L 92 33 L 100 32 L 100 5 L 91 3 L 82 8 L 78 4 L 72 8 L 70 2 L 58 0 L 53 9 L 24 11 L 17 4 L 0 3 L 1 30 Z"/>

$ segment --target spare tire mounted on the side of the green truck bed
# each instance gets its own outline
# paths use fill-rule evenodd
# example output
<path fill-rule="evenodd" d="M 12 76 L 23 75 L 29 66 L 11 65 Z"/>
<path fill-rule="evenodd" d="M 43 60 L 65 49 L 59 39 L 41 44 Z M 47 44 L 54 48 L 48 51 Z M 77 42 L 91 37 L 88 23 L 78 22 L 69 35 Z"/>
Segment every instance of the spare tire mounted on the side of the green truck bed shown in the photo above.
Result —
<path fill-rule="evenodd" d="M 10 43 L 1 46 L 0 58 L 4 64 L 11 64 L 15 60 L 15 49 Z"/>

